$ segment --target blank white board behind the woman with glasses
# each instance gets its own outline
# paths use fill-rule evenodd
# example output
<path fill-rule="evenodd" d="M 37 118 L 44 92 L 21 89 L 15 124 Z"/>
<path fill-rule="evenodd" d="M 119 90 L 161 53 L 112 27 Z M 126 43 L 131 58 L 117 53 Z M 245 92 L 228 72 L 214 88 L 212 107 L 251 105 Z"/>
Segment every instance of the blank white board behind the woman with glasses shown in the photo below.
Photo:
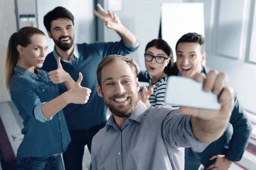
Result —
<path fill-rule="evenodd" d="M 161 31 L 174 51 L 176 62 L 176 42 L 188 32 L 204 36 L 204 3 L 163 3 L 161 6 Z"/>

